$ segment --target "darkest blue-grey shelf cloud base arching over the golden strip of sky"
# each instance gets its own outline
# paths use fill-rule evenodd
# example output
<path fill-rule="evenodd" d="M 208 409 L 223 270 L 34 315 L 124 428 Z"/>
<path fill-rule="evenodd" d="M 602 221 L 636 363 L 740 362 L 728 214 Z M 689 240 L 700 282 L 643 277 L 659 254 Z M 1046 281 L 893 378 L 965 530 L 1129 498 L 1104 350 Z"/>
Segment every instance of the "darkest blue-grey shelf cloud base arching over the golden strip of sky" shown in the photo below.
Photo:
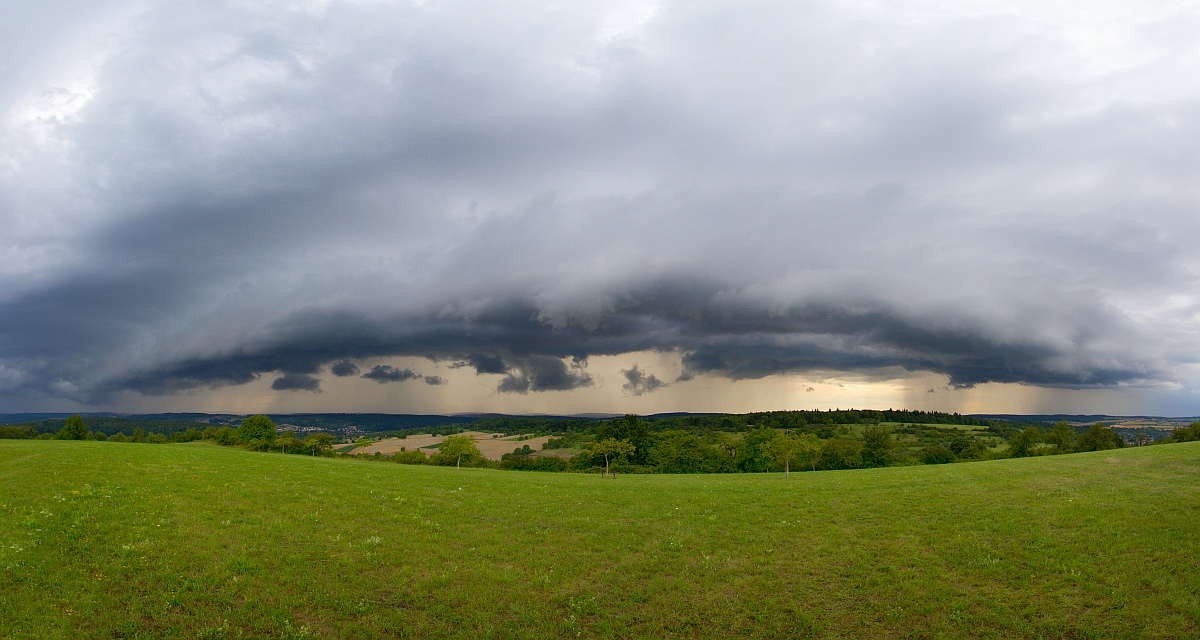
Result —
<path fill-rule="evenodd" d="M 719 285 L 656 282 L 631 292 L 589 322 L 553 328 L 538 319 L 539 307 L 511 300 L 468 318 L 444 315 L 371 321 L 349 312 L 295 313 L 274 327 L 272 339 L 240 353 L 193 359 L 148 371 L 116 384 L 144 394 L 170 394 L 194 387 L 244 384 L 282 372 L 272 388 L 314 390 L 316 373 L 356 371 L 355 359 L 422 357 L 503 376 L 500 393 L 564 391 L 594 383 L 586 371 L 590 355 L 638 351 L 682 353 L 680 381 L 696 375 L 733 379 L 808 371 L 871 371 L 904 367 L 943 373 L 955 387 L 986 382 L 1048 387 L 1104 387 L 1136 381 L 1152 371 L 1136 367 L 1080 366 L 1062 370 L 1078 355 L 1036 342 L 1013 343 L 956 325 L 923 325 L 882 306 L 853 309 L 802 305 L 786 312 L 733 304 Z M 1084 349 L 1084 346 L 1076 346 Z M 353 375 L 353 373 L 352 373 Z M 665 383 L 637 369 L 623 371 L 634 394 Z M 410 369 L 376 365 L 360 376 L 379 383 L 424 379 Z"/>

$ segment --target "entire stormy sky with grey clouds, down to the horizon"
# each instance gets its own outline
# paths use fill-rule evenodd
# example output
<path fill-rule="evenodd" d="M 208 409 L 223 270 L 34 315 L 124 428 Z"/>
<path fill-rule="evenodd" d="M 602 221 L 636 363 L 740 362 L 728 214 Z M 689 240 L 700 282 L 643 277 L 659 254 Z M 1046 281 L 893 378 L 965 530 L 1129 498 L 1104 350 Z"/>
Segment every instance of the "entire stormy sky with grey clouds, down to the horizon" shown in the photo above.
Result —
<path fill-rule="evenodd" d="M 0 0 L 0 411 L 1196 415 L 1198 32 Z"/>

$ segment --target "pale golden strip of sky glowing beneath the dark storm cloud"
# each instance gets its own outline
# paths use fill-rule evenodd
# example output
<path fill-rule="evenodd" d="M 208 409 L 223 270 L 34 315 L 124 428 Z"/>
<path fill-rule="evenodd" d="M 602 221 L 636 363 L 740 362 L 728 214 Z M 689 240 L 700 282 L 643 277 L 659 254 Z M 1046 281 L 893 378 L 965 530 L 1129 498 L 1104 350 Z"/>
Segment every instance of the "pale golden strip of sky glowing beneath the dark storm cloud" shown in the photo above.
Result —
<path fill-rule="evenodd" d="M 1022 384 L 988 383 L 955 389 L 934 373 L 901 369 L 874 376 L 846 372 L 776 375 L 732 381 L 696 376 L 677 382 L 682 366 L 677 353 L 641 352 L 594 357 L 587 363 L 593 383 L 569 391 L 502 394 L 500 376 L 479 376 L 470 367 L 422 358 L 383 358 L 358 363 L 362 371 L 377 364 L 440 376 L 445 384 L 420 379 L 379 384 L 361 377 L 340 378 L 322 372 L 322 390 L 277 391 L 276 376 L 238 387 L 193 390 L 170 396 L 127 395 L 124 411 L 233 412 L 233 413 L 744 413 L 784 409 L 907 408 L 958 413 L 1130 413 L 1135 407 L 1117 390 L 1046 389 Z M 637 365 L 666 383 L 652 393 L 635 395 L 623 388 L 622 371 Z"/>

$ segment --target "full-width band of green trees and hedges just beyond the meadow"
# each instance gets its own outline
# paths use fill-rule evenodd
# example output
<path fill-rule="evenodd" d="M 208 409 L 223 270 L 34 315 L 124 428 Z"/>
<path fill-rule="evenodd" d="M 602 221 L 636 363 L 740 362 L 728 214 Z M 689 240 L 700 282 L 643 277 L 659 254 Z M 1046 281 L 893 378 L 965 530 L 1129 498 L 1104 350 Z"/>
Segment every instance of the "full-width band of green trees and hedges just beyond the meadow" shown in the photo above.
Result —
<path fill-rule="evenodd" d="M 776 412 L 792 413 L 792 412 Z M 913 412 L 916 413 L 916 412 Z M 923 423 L 888 426 L 882 424 L 859 423 L 860 429 L 852 430 L 848 424 L 827 425 L 817 423 L 793 421 L 793 429 L 775 426 L 776 415 L 748 414 L 767 417 L 756 420 L 744 432 L 727 432 L 715 429 L 655 429 L 677 425 L 667 420 L 641 419 L 637 415 L 625 415 L 599 423 L 580 423 L 568 432 L 560 432 L 551 438 L 546 449 L 574 449 L 570 457 L 538 456 L 528 445 L 517 447 L 514 453 L 505 454 L 498 461 L 486 460 L 469 436 L 451 435 L 432 456 L 421 451 L 402 451 L 395 456 L 370 456 L 401 463 L 452 465 L 468 467 L 494 467 L 520 471 L 590 471 L 613 473 L 761 473 L 792 471 L 822 471 L 884 467 L 912 463 L 949 463 L 974 460 L 994 460 L 1000 457 L 1027 457 L 1033 455 L 1060 455 L 1078 451 L 1096 451 L 1126 447 L 1128 443 L 1115 430 L 1096 423 L 1087 427 L 1072 427 L 1060 421 L 1049 427 L 1030 425 L 1024 429 L 994 429 L 986 424 L 980 433 L 1002 442 L 1007 447 L 989 447 L 983 437 L 965 433 L 956 427 L 941 427 L 938 424 Z M 684 418 L 695 418 L 691 415 Z M 517 421 L 504 423 L 509 427 L 527 426 Z M 540 423 L 548 426 L 553 420 Z M 325 432 L 313 432 L 304 438 L 294 431 L 278 431 L 276 424 L 266 415 L 245 418 L 236 427 L 209 425 L 205 429 L 193 426 L 174 431 L 169 436 L 162 432 L 146 432 L 140 426 L 132 433 L 104 433 L 90 429 L 80 415 L 62 420 L 59 431 L 41 433 L 30 425 L 0 425 L 0 437 L 7 438 L 58 438 L 58 439 L 107 439 L 109 442 L 194 442 L 209 441 L 221 445 L 238 445 L 257 451 L 278 451 L 302 455 L 344 455 L 335 454 L 334 436 Z M 812 429 L 808 429 L 814 426 Z M 827 432 L 824 426 L 832 426 Z M 979 425 L 984 426 L 984 425 Z M 590 427 L 590 429 L 588 429 Z M 1007 432 L 1003 438 L 997 431 Z M 826 437 L 827 436 L 827 437 Z M 913 451 L 900 436 L 908 436 L 912 443 L 919 445 Z M 1200 421 L 1187 427 L 1176 429 L 1170 438 L 1160 441 L 1189 442 L 1200 441 Z M 366 444 L 370 441 L 360 441 Z M 1135 442 L 1134 444 L 1151 444 Z"/>

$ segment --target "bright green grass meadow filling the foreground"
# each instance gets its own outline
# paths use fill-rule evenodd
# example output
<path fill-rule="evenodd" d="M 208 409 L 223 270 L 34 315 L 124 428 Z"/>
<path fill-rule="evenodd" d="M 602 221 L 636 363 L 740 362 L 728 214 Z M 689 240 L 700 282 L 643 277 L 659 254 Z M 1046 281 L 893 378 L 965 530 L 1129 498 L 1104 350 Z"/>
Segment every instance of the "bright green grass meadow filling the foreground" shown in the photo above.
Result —
<path fill-rule="evenodd" d="M 1200 443 L 522 473 L 0 441 L 0 638 L 1196 638 Z"/>

